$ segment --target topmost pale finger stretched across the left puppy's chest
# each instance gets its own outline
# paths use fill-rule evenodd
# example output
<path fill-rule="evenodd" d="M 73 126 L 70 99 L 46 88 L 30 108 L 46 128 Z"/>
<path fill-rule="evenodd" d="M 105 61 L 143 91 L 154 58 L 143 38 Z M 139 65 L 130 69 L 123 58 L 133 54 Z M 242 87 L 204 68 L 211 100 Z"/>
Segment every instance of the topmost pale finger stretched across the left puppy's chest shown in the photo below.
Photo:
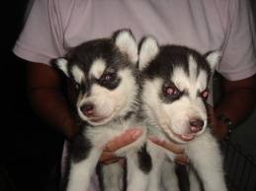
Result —
<path fill-rule="evenodd" d="M 123 135 L 109 142 L 104 148 L 104 152 L 115 152 L 134 142 L 141 134 L 141 129 L 128 129 Z"/>

